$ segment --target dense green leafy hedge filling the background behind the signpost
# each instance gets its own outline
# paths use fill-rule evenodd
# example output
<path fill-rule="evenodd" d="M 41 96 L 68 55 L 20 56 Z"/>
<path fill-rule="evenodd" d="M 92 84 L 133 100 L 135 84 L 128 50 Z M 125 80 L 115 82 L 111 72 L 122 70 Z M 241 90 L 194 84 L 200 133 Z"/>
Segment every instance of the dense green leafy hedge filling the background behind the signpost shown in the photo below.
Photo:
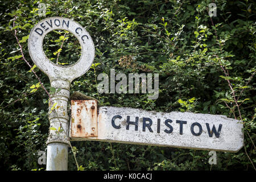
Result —
<path fill-rule="evenodd" d="M 38 151 L 46 150 L 48 95 L 24 58 L 34 65 L 28 35 L 36 23 L 51 16 L 79 22 L 96 48 L 93 67 L 72 82 L 71 92 L 95 97 L 107 106 L 227 115 L 241 119 L 245 128 L 245 147 L 237 153 L 217 152 L 217 165 L 209 165 L 209 151 L 72 142 L 79 166 L 85 170 L 255 169 L 255 1 L 0 2 L 2 170 L 46 168 L 38 164 Z M 46 16 L 39 17 L 40 2 L 46 3 Z M 212 18 L 211 2 L 217 5 L 217 16 Z M 55 63 L 72 64 L 80 56 L 80 44 L 70 33 L 54 31 L 44 39 L 44 51 Z M 109 75 L 111 68 L 126 75 L 159 73 L 159 98 L 97 93 L 97 75 Z M 33 69 L 52 91 L 48 77 Z M 77 169 L 71 150 L 69 169 Z"/>

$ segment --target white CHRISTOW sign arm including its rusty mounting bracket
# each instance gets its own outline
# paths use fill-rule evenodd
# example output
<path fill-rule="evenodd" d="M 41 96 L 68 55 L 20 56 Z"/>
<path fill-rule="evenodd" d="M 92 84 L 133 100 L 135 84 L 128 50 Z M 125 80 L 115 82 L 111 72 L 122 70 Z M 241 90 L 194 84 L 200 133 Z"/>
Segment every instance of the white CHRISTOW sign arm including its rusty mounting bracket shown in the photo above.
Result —
<path fill-rule="evenodd" d="M 71 113 L 70 140 L 228 152 L 237 152 L 243 146 L 243 124 L 224 115 L 97 108 L 94 100 L 72 101 Z"/>

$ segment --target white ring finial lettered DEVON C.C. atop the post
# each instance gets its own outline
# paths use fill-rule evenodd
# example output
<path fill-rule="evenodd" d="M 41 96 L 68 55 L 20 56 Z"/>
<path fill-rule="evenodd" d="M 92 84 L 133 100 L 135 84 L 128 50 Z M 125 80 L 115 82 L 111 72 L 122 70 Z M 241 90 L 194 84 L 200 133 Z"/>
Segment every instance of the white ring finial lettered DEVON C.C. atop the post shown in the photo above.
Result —
<path fill-rule="evenodd" d="M 43 39 L 52 30 L 67 30 L 79 40 L 81 57 L 72 65 L 61 66 L 52 63 L 43 51 Z M 28 51 L 35 65 L 50 78 L 50 80 L 68 80 L 71 82 L 84 75 L 93 63 L 95 49 L 89 33 L 77 22 L 63 17 L 51 17 L 41 20 L 30 32 Z"/>

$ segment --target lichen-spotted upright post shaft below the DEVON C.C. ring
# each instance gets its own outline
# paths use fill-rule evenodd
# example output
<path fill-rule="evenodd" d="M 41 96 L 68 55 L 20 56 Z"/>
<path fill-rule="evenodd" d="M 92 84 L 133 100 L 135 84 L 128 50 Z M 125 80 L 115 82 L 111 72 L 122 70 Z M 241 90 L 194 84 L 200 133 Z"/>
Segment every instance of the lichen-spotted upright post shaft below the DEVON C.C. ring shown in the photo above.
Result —
<path fill-rule="evenodd" d="M 51 95 L 49 105 L 50 133 L 47 140 L 47 171 L 67 171 L 68 169 L 69 85 L 69 81 L 51 81 L 51 86 L 58 91 Z"/>

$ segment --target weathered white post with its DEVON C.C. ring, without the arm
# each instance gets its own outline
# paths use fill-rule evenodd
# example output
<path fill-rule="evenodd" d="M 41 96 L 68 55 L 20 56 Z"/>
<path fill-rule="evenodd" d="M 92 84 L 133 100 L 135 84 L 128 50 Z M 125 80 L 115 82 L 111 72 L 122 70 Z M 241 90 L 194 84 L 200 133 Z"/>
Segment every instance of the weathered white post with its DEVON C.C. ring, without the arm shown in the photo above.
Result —
<path fill-rule="evenodd" d="M 67 30 L 79 40 L 81 57 L 72 65 L 61 66 L 52 63 L 44 54 L 43 39 L 48 32 L 56 29 Z M 68 101 L 72 80 L 84 75 L 94 59 L 94 44 L 88 32 L 77 22 L 63 17 L 51 17 L 40 21 L 32 28 L 28 38 L 28 51 L 35 65 L 49 77 L 51 86 L 58 90 L 51 95 L 49 104 L 50 127 L 47 140 L 47 171 L 67 170 L 68 166 Z M 52 108 L 53 107 L 53 108 Z M 57 132 L 59 129 L 62 132 Z"/>

